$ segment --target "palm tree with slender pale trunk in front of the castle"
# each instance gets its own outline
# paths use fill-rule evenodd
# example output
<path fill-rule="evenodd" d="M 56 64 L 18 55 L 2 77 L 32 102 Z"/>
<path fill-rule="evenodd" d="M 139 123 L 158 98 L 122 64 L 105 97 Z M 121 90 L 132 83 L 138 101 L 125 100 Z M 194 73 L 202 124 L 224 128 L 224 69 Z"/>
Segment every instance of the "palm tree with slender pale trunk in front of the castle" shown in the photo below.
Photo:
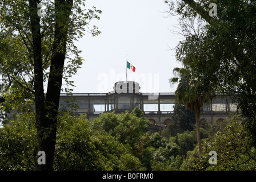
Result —
<path fill-rule="evenodd" d="M 173 72 L 179 77 L 170 78 L 171 84 L 178 83 L 175 90 L 175 100 L 184 104 L 188 109 L 195 111 L 195 125 L 197 127 L 198 155 L 202 154 L 199 118 L 203 102 L 209 101 L 209 94 L 204 91 L 203 84 L 193 77 L 189 68 L 174 68 Z"/>

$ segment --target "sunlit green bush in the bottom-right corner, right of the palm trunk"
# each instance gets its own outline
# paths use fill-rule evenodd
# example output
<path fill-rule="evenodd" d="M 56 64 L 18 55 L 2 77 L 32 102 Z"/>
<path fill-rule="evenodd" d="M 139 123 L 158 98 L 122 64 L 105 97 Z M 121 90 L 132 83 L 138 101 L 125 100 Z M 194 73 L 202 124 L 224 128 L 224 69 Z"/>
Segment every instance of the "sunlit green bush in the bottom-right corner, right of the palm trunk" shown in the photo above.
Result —
<path fill-rule="evenodd" d="M 224 129 L 220 127 L 222 131 L 204 140 L 201 158 L 195 156 L 195 151 L 188 152 L 183 167 L 190 170 L 255 170 L 256 151 L 242 121 L 234 117 L 228 119 L 226 124 Z M 217 152 L 215 165 L 209 164 L 210 151 Z"/>

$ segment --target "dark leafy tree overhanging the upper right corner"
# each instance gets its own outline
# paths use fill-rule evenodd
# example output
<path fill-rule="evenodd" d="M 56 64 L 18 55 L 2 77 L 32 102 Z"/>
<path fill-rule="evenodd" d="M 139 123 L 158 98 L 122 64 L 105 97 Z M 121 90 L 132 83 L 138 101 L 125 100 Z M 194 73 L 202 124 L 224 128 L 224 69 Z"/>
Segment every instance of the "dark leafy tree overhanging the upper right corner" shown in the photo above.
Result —
<path fill-rule="evenodd" d="M 256 146 L 256 80 L 255 80 L 255 16 L 254 1 L 182 0 L 171 11 L 197 16 L 207 23 L 199 36 L 187 36 L 177 47 L 177 59 L 198 77 L 214 84 L 216 92 L 232 96 Z M 218 15 L 207 16 L 210 2 L 216 3 Z M 198 59 L 199 58 L 199 59 Z"/>

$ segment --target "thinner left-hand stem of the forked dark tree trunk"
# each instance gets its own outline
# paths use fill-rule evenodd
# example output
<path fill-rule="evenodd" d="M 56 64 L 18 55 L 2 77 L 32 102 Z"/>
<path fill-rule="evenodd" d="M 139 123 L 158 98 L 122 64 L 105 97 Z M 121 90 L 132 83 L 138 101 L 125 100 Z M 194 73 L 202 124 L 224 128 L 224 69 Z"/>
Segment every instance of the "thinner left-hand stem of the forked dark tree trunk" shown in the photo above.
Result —
<path fill-rule="evenodd" d="M 35 122 L 37 127 L 38 151 L 48 152 L 47 140 L 44 138 L 45 123 L 45 94 L 43 91 L 43 69 L 42 69 L 42 46 L 40 18 L 37 15 L 37 1 L 30 0 L 30 23 L 33 42 L 33 59 L 34 59 L 34 89 L 35 89 Z M 47 158 L 46 158 L 47 159 Z M 35 169 L 47 169 L 48 165 L 39 165 L 35 160 Z"/>

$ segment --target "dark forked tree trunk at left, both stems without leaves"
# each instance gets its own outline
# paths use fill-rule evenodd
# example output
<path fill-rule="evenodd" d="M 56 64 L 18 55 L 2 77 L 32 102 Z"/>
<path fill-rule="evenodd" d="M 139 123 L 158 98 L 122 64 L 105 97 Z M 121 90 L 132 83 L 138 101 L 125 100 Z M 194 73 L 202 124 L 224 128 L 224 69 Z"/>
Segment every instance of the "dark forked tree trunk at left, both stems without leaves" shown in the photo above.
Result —
<path fill-rule="evenodd" d="M 42 47 L 40 18 L 37 15 L 37 0 L 30 0 L 30 23 L 33 39 L 35 118 L 38 135 L 38 151 L 45 152 L 45 164 L 38 164 L 35 169 L 40 171 L 53 170 L 54 152 L 57 131 L 57 114 L 59 94 L 61 93 L 63 68 L 66 55 L 67 27 L 73 0 L 55 0 L 55 33 L 53 56 L 46 98 L 43 90 Z M 37 156 L 38 158 L 38 156 Z"/>

